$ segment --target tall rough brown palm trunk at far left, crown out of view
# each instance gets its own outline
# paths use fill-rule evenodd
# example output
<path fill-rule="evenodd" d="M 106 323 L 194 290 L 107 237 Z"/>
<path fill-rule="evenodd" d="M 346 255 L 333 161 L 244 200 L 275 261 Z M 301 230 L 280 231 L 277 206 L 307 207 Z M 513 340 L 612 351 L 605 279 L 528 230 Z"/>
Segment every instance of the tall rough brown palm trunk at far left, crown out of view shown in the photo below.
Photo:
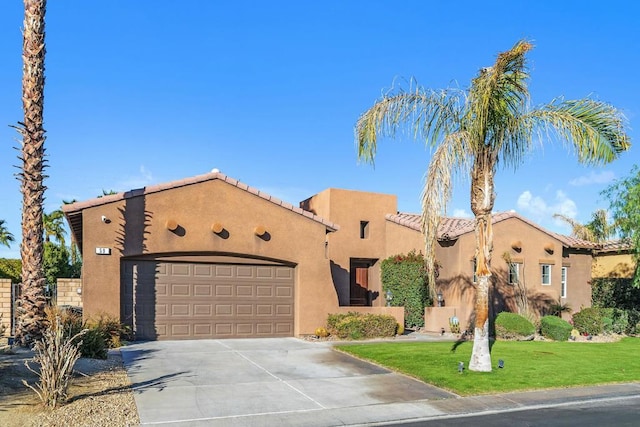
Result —
<path fill-rule="evenodd" d="M 22 36 L 22 295 L 18 302 L 16 339 L 26 345 L 42 336 L 45 277 L 43 270 L 43 202 L 45 169 L 44 109 L 46 0 L 24 0 Z"/>

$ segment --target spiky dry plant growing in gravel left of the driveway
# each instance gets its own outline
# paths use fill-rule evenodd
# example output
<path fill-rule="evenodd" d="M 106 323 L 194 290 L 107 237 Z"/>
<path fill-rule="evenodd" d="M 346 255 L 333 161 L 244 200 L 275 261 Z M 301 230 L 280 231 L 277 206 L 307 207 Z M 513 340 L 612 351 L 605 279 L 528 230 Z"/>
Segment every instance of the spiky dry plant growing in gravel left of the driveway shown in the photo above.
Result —
<path fill-rule="evenodd" d="M 35 341 L 33 349 L 35 356 L 32 362 L 40 365 L 40 369 L 34 369 L 29 360 L 24 362 L 27 369 L 39 378 L 35 385 L 22 380 L 22 383 L 33 390 L 42 403 L 50 408 L 55 408 L 67 399 L 69 380 L 73 372 L 73 366 L 80 358 L 79 346 L 85 330 L 67 337 L 59 318 L 45 328 L 42 339 Z"/>

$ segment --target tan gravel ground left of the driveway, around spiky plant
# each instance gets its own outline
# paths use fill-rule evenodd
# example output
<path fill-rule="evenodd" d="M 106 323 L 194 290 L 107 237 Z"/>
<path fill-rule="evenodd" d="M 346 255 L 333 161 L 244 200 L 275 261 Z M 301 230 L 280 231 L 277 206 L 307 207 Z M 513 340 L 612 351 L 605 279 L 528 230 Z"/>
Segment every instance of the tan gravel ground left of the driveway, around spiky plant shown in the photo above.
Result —
<path fill-rule="evenodd" d="M 49 410 L 22 384 L 37 381 L 24 361 L 33 354 L 0 346 L 0 426 L 137 426 L 140 421 L 120 352 L 107 360 L 80 359 L 66 404 Z M 33 363 L 31 364 L 34 365 Z"/>

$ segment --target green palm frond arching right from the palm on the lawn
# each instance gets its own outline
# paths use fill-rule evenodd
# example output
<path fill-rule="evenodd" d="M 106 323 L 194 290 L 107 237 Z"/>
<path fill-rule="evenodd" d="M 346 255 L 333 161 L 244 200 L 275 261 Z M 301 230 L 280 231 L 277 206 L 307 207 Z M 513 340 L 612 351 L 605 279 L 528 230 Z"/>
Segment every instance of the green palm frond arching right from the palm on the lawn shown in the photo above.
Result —
<path fill-rule="evenodd" d="M 545 135 L 557 135 L 586 164 L 605 164 L 629 149 L 626 118 L 610 104 L 592 99 L 554 100 L 532 110 L 529 118 Z"/>

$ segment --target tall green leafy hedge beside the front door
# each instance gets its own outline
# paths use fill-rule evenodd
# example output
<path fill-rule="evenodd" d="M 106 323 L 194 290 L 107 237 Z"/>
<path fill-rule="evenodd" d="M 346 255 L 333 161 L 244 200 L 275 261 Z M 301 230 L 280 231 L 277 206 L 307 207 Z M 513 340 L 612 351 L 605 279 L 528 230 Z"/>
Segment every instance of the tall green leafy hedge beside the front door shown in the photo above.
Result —
<path fill-rule="evenodd" d="M 431 299 L 422 254 L 412 251 L 383 260 L 381 277 L 383 298 L 390 292 L 390 305 L 404 306 L 405 325 L 424 326 L 424 308 L 431 305 Z"/>

